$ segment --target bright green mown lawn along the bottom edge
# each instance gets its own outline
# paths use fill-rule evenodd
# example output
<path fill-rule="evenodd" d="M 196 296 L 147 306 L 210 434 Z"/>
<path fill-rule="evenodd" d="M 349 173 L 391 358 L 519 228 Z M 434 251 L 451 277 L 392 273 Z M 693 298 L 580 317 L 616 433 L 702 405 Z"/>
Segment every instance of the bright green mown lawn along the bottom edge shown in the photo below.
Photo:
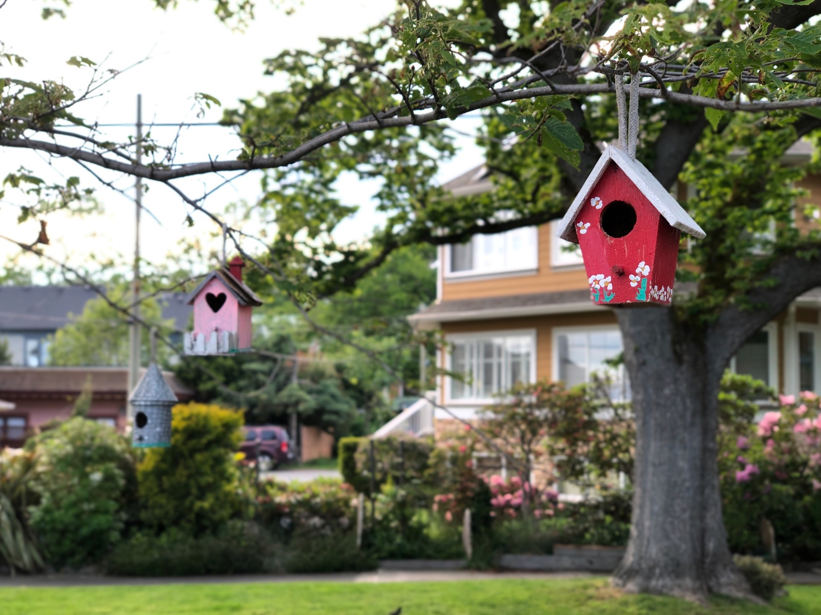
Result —
<path fill-rule="evenodd" d="M 0 605 L 3 615 L 819 615 L 821 587 L 791 586 L 773 607 L 714 598 L 701 608 L 604 579 L 0 588 Z"/>

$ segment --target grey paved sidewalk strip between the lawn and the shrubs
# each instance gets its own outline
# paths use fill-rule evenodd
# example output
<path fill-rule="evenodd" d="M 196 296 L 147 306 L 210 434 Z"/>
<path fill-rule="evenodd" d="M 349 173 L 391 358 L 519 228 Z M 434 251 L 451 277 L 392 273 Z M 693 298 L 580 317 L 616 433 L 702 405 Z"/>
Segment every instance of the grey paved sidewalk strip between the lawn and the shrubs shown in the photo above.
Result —
<path fill-rule="evenodd" d="M 423 581 L 490 581 L 499 579 L 576 579 L 594 575 L 590 572 L 479 572 L 454 571 L 388 571 L 339 572 L 318 575 L 236 575 L 131 577 L 97 575 L 0 576 L 3 587 L 77 587 L 94 585 L 181 585 L 225 583 L 418 583 Z M 794 585 L 821 585 L 821 575 L 813 572 L 787 572 Z"/>

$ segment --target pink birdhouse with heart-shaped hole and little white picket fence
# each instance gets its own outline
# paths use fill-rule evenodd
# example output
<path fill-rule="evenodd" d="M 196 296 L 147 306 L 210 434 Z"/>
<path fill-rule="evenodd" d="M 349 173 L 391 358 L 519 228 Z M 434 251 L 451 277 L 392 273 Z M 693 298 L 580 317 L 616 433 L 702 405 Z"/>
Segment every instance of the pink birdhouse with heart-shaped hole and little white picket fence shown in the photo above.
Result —
<path fill-rule="evenodd" d="M 251 309 L 262 305 L 242 282 L 245 264 L 237 256 L 228 267 L 209 273 L 190 294 L 194 331 L 186 333 L 186 355 L 218 355 L 251 346 Z"/>

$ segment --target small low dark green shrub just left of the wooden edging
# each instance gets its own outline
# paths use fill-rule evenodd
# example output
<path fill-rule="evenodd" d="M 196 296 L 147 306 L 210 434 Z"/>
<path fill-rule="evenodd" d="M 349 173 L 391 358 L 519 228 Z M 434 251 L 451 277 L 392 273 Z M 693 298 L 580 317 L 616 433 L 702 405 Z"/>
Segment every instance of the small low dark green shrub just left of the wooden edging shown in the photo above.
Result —
<path fill-rule="evenodd" d="M 288 545 L 286 570 L 295 573 L 374 570 L 374 555 L 356 548 L 353 534 L 300 534 Z"/>

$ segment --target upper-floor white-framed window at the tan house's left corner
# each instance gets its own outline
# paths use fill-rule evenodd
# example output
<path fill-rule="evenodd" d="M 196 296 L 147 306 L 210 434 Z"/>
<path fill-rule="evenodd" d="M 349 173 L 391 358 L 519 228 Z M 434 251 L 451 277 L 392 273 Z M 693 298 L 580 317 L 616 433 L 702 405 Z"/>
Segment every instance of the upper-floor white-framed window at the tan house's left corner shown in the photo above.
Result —
<path fill-rule="evenodd" d="M 447 246 L 447 276 L 527 271 L 538 268 L 536 227 L 495 235 L 475 235 L 464 244 Z"/>

